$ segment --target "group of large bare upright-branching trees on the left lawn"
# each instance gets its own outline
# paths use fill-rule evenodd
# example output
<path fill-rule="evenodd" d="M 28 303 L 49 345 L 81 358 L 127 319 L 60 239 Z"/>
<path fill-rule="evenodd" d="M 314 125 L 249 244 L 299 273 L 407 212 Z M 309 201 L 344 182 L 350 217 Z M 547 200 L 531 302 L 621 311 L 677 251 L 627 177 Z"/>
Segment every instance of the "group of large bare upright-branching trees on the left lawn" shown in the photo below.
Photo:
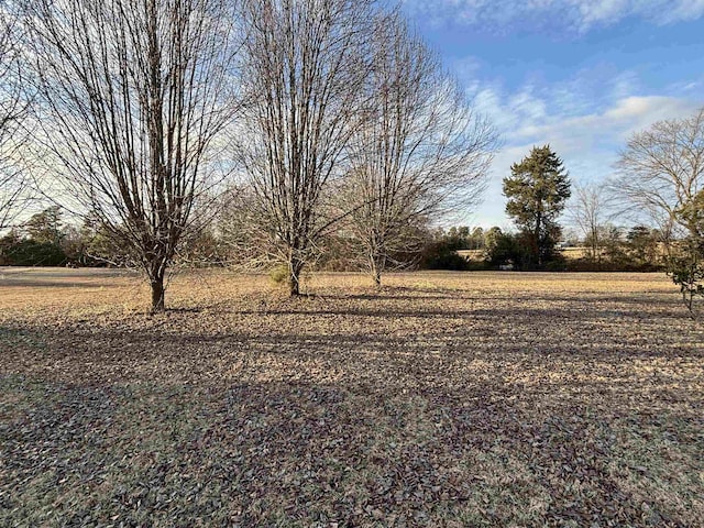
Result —
<path fill-rule="evenodd" d="M 131 255 L 154 311 L 216 217 L 211 237 L 283 263 L 297 295 L 330 232 L 381 284 L 419 226 L 482 190 L 493 129 L 383 2 L 10 0 L 0 16 L 0 229 L 31 176 Z"/>

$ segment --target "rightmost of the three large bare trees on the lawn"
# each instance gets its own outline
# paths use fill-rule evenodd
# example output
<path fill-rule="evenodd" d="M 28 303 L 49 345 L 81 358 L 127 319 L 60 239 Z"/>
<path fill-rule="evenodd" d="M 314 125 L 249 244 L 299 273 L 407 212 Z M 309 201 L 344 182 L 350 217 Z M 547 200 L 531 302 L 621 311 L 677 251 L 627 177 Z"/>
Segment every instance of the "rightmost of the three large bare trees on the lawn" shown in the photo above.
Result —
<path fill-rule="evenodd" d="M 380 21 L 373 54 L 367 119 L 354 131 L 338 202 L 381 286 L 399 264 L 393 255 L 414 249 L 409 228 L 476 200 L 496 135 L 400 18 Z"/>

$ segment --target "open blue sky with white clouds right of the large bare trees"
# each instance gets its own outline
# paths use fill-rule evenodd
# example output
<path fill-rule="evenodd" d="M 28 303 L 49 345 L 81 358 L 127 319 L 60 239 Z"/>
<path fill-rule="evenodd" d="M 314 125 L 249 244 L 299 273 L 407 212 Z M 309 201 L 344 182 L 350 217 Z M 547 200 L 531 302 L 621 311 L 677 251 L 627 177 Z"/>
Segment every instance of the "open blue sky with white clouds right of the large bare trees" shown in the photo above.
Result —
<path fill-rule="evenodd" d="M 510 228 L 502 179 L 550 144 L 598 183 L 628 136 L 704 106 L 704 0 L 403 0 L 502 138 L 484 201 L 459 218 Z"/>

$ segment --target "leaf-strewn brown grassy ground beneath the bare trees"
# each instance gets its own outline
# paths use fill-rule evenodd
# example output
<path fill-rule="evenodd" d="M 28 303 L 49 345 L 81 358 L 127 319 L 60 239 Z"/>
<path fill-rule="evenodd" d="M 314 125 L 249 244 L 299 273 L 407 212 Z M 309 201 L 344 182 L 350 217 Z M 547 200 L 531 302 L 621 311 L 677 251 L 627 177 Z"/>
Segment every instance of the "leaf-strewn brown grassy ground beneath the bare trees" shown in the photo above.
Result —
<path fill-rule="evenodd" d="M 704 526 L 704 323 L 650 274 L 0 270 L 0 526 Z"/>

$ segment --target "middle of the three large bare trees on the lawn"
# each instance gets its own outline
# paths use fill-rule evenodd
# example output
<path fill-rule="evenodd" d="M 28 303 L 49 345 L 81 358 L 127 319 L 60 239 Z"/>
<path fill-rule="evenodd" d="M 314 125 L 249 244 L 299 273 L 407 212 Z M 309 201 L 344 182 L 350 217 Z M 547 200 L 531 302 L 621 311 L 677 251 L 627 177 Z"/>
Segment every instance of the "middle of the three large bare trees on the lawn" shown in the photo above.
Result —
<path fill-rule="evenodd" d="M 364 120 L 373 0 L 245 0 L 244 91 L 252 103 L 240 145 L 252 211 L 292 295 L 330 224 L 323 196 L 343 174 Z"/>

